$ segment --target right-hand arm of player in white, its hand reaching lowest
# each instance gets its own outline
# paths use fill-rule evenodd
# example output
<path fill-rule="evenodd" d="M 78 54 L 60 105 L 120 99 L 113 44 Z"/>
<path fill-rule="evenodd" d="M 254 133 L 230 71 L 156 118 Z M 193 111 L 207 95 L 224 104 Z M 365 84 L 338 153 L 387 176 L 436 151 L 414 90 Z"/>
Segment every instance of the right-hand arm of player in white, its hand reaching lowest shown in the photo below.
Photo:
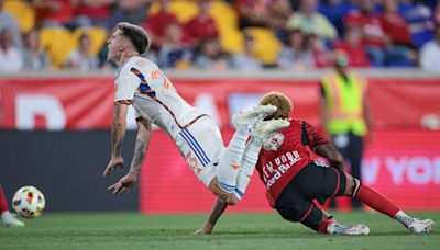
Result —
<path fill-rule="evenodd" d="M 148 148 L 151 140 L 152 126 L 150 122 L 143 118 L 138 118 L 136 122 L 139 129 L 136 144 L 134 146 L 133 160 L 129 173 L 122 177 L 117 183 L 109 186 L 109 190 L 111 190 L 113 194 L 122 194 L 125 191 L 129 193 L 131 192 L 131 189 L 138 182 L 138 175 L 144 162 L 146 149 Z"/>

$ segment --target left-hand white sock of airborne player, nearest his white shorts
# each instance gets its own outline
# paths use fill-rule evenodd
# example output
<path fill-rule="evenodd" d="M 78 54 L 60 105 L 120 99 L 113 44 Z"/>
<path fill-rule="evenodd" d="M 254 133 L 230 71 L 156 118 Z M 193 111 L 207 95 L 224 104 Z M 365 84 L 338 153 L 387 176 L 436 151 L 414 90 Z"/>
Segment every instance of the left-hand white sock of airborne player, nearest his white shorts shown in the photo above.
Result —
<path fill-rule="evenodd" d="M 249 133 L 245 126 L 239 126 L 228 147 L 220 156 L 217 180 L 219 181 L 219 188 L 228 193 L 232 193 L 235 190 L 237 175 L 240 171 Z"/>

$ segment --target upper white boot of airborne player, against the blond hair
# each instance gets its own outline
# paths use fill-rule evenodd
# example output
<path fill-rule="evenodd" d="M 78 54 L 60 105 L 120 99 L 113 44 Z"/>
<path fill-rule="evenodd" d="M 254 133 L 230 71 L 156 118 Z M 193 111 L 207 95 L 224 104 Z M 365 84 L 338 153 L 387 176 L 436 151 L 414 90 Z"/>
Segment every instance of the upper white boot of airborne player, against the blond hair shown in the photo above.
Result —
<path fill-rule="evenodd" d="M 251 110 L 234 114 L 232 116 L 232 124 L 235 128 L 240 125 L 245 125 L 248 129 L 252 129 L 258 122 L 273 114 L 276 110 L 274 105 L 254 106 Z"/>

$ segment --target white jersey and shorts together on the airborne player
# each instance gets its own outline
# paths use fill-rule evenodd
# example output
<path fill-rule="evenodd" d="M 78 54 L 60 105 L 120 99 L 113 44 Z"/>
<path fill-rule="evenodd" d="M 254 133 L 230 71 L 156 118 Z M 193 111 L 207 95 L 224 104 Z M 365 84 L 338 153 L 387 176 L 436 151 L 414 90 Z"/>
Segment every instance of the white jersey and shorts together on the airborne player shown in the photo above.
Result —
<path fill-rule="evenodd" d="M 131 57 L 120 66 L 114 88 L 114 102 L 133 104 L 136 117 L 168 133 L 197 178 L 209 186 L 224 149 L 212 120 L 189 105 L 157 65 L 142 57 Z"/>

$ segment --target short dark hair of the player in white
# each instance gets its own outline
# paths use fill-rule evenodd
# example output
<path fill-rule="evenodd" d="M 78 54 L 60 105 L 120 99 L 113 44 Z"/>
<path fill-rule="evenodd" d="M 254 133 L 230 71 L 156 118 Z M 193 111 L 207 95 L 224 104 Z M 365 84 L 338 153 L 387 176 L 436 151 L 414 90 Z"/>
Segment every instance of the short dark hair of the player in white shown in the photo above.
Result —
<path fill-rule="evenodd" d="M 127 22 L 118 23 L 118 29 L 131 41 L 139 54 L 148 49 L 151 39 L 144 29 Z"/>

